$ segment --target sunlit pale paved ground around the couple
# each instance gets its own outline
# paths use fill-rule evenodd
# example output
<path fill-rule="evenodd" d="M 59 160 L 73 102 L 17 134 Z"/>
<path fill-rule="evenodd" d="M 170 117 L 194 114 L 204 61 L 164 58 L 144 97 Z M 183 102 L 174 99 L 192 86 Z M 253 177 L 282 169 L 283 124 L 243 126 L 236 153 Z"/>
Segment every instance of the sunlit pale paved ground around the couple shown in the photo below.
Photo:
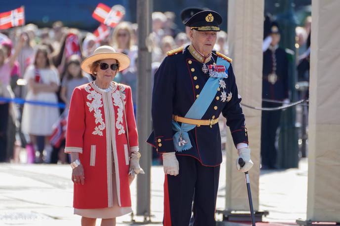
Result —
<path fill-rule="evenodd" d="M 225 161 L 224 161 L 225 162 Z M 224 207 L 225 165 L 221 167 L 217 209 Z M 0 226 L 77 226 L 80 217 L 73 215 L 68 165 L 0 164 Z M 163 169 L 152 167 L 151 211 L 154 224 L 163 217 Z M 259 181 L 260 210 L 268 210 L 265 221 L 292 224 L 305 218 L 307 198 L 307 161 L 298 169 L 262 171 Z M 132 206 L 136 205 L 136 185 L 131 185 Z M 117 219 L 118 226 L 135 225 L 130 216 Z M 136 217 L 137 221 L 142 221 Z M 156 222 L 159 222 L 158 224 Z M 97 226 L 100 221 L 97 222 Z M 236 226 L 237 224 L 229 224 Z M 240 224 L 238 224 L 240 225 Z M 248 224 L 249 225 L 249 224 Z M 280 224 L 281 225 L 281 224 Z"/>

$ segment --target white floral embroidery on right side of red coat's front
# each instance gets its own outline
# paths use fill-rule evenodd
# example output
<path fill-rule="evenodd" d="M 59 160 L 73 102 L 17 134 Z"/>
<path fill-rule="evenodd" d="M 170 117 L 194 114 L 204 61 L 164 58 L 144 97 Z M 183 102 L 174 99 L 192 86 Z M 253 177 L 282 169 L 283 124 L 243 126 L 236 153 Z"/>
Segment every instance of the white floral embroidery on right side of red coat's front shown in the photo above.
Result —
<path fill-rule="evenodd" d="M 119 91 L 121 90 L 121 92 Z M 124 134 L 125 129 L 123 125 L 123 113 L 124 113 L 124 105 L 126 103 L 126 95 L 124 93 L 125 87 L 124 86 L 118 86 L 118 89 L 112 93 L 112 98 L 113 98 L 113 105 L 118 107 L 117 110 L 117 119 L 116 119 L 116 128 L 118 129 L 118 135 Z M 122 97 L 121 97 L 122 93 Z M 122 99 L 124 103 L 122 102 Z"/>

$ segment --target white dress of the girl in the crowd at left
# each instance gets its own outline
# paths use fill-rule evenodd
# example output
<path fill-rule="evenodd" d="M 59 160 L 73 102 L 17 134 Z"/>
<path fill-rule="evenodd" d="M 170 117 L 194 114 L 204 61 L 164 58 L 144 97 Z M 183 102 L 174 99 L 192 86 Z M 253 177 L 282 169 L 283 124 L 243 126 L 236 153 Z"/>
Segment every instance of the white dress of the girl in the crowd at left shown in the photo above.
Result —
<path fill-rule="evenodd" d="M 40 82 L 51 84 L 52 82 L 60 85 L 60 79 L 55 69 L 39 69 Z M 26 69 L 24 78 L 28 81 L 35 78 L 36 70 L 33 65 Z M 26 100 L 58 103 L 57 95 L 54 92 L 39 92 L 34 94 L 28 87 Z M 22 131 L 27 134 L 49 136 L 52 134 L 52 126 L 58 120 L 59 109 L 56 107 L 32 105 L 25 103 L 22 113 Z"/>

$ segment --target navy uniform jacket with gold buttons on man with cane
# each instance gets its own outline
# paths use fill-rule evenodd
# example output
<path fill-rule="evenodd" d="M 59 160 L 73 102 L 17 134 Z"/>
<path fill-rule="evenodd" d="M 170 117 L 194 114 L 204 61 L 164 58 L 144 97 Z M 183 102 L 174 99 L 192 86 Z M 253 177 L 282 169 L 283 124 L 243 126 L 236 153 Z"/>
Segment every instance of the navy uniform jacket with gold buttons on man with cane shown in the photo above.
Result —
<path fill-rule="evenodd" d="M 213 51 L 212 59 L 207 65 L 217 61 Z M 231 61 L 223 56 L 225 60 Z M 176 54 L 167 56 L 155 74 L 152 97 L 153 132 L 148 143 L 153 145 L 158 153 L 173 152 L 172 115 L 184 117 L 197 99 L 209 73 L 202 72 L 203 64 L 189 52 L 179 48 Z M 228 77 L 223 78 L 226 88 L 218 88 L 213 102 L 202 119 L 217 118 L 220 113 L 227 118 L 235 146 L 238 143 L 248 143 L 245 117 L 240 106 L 241 97 L 238 95 L 235 75 L 232 66 L 228 69 Z M 227 98 L 222 98 L 222 92 Z M 179 123 L 180 124 L 180 123 Z M 196 126 L 189 132 L 192 148 L 176 152 L 176 155 L 189 155 L 205 166 L 217 166 L 222 162 L 221 137 L 218 123 L 212 127 Z M 178 141 L 176 141 L 178 142 Z"/>

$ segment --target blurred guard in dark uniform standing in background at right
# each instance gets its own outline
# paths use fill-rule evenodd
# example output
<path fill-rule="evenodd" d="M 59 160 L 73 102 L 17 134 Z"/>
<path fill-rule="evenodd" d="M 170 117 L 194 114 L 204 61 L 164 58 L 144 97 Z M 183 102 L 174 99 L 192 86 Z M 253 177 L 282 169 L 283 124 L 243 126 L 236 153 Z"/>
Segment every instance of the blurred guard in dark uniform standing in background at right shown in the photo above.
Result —
<path fill-rule="evenodd" d="M 263 53 L 262 107 L 274 108 L 288 99 L 288 58 L 286 50 L 279 47 L 280 30 L 276 22 L 270 28 L 271 43 Z M 280 124 L 281 111 L 262 112 L 261 121 L 261 164 L 262 169 L 277 168 L 277 150 L 275 147 L 276 131 Z"/>

